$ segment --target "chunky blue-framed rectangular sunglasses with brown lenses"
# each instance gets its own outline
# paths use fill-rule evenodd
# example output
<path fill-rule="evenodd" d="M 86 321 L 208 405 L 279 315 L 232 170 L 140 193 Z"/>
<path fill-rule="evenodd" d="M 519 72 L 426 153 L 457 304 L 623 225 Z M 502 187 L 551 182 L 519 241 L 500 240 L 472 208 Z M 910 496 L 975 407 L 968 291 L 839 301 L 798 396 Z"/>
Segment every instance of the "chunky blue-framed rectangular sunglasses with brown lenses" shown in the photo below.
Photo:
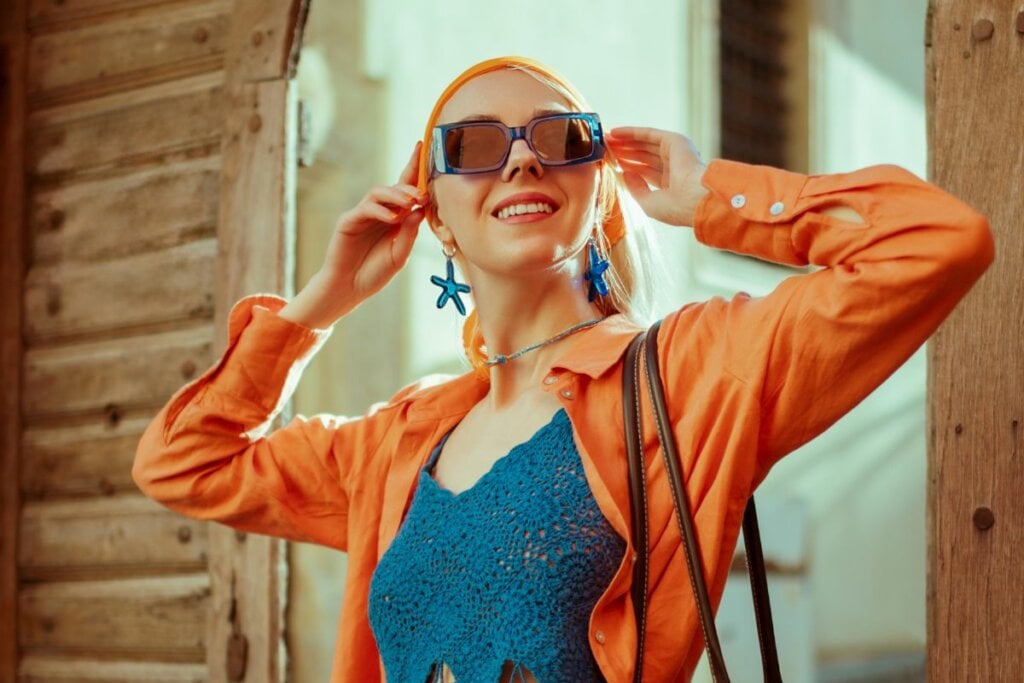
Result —
<path fill-rule="evenodd" d="M 512 143 L 519 139 L 526 141 L 543 166 L 586 164 L 604 156 L 601 120 L 596 114 L 552 114 L 518 128 L 500 121 L 466 121 L 434 128 L 434 172 L 497 171 L 505 166 Z"/>

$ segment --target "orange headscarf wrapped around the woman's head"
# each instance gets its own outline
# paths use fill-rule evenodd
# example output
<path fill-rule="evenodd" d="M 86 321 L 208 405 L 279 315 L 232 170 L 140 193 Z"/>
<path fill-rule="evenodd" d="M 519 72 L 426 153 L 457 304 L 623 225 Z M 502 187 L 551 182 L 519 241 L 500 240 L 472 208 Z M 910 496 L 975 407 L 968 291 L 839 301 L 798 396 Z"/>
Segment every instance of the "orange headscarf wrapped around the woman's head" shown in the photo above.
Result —
<path fill-rule="evenodd" d="M 474 65 L 460 74 L 454 81 L 452 81 L 452 83 L 449 84 L 446 88 L 444 88 L 440 97 L 437 98 L 437 102 L 434 104 L 433 111 L 430 113 L 430 118 L 427 119 L 427 126 L 423 133 L 423 145 L 420 147 L 420 170 L 417 179 L 417 185 L 420 191 L 427 191 L 427 182 L 430 179 L 430 148 L 433 130 L 434 126 L 437 125 L 437 117 L 440 115 L 444 104 L 452 99 L 452 96 L 455 95 L 459 88 L 461 88 L 467 81 L 488 72 L 498 71 L 500 69 L 509 69 L 512 67 L 521 67 L 534 72 L 535 74 L 540 74 L 541 76 L 551 79 L 564 88 L 565 92 L 569 95 L 569 104 L 581 112 L 585 112 L 590 109 L 587 104 L 587 100 L 580 93 L 580 91 L 572 86 L 571 83 L 569 83 L 558 72 L 546 65 L 541 63 L 540 61 L 537 61 L 536 59 L 520 56 L 506 56 L 486 59 Z M 605 211 L 604 224 L 601 226 L 601 229 L 603 230 L 608 244 L 614 245 L 623 239 L 623 236 L 625 236 L 626 222 L 623 219 L 623 213 L 618 206 L 618 197 L 616 193 L 612 190 L 610 194 L 610 203 Z M 483 347 L 483 336 L 480 334 L 480 326 L 477 322 L 476 310 L 473 310 L 469 314 L 469 317 L 466 318 L 466 323 L 462 330 L 462 341 L 463 347 L 466 351 L 466 357 L 469 358 L 469 362 L 476 369 L 477 376 L 483 380 L 488 379 L 489 373 L 487 371 L 487 367 L 484 365 L 487 355 Z"/>

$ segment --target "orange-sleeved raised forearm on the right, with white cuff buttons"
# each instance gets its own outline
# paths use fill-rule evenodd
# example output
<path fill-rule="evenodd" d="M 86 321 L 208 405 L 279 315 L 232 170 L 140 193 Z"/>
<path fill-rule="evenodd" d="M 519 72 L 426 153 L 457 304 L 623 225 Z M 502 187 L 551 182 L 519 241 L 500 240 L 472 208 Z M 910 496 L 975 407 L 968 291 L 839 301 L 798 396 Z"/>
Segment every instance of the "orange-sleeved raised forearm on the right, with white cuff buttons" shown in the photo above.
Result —
<path fill-rule="evenodd" d="M 719 249 L 824 267 L 911 259 L 980 273 L 991 260 L 983 216 L 897 167 L 803 176 L 718 161 L 705 182 L 694 230 Z"/>

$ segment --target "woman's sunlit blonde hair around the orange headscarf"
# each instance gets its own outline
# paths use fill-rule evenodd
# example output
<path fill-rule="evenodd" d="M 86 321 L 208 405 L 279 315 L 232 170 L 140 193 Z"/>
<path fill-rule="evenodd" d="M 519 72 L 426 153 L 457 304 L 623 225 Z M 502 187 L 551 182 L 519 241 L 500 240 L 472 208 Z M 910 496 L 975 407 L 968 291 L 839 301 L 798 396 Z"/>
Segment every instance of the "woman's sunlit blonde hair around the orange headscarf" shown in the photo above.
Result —
<path fill-rule="evenodd" d="M 559 80 L 552 73 L 536 68 L 536 62 L 531 60 L 510 58 L 510 61 L 511 63 L 499 68 L 530 76 L 563 97 L 578 112 L 592 111 L 582 94 L 566 86 L 564 79 Z M 433 151 L 427 147 L 424 152 L 427 156 L 423 166 L 430 168 L 433 165 Z M 654 299 L 650 270 L 655 265 L 655 258 L 651 249 L 650 222 L 626 188 L 622 171 L 614 159 L 606 155 L 598 163 L 598 215 L 594 237 L 601 253 L 607 255 L 610 266 L 604 273 L 608 295 L 599 299 L 596 304 L 605 315 L 622 313 L 639 325 L 645 325 L 652 314 Z M 422 176 L 421 180 L 425 180 L 423 184 L 431 198 L 426 212 L 427 219 L 435 224 L 437 206 L 433 196 L 433 181 Z M 488 371 L 484 364 L 488 354 L 475 310 L 466 318 L 463 327 L 463 348 L 477 375 L 481 379 L 487 379 Z"/>

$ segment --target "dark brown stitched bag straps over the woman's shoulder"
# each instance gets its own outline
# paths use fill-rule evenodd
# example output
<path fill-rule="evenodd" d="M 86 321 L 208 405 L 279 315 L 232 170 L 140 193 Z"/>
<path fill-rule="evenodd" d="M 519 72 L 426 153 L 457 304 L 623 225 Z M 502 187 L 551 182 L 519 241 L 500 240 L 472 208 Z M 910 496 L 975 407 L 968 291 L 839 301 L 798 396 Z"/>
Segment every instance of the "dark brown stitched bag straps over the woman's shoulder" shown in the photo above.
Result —
<path fill-rule="evenodd" d="M 680 537 L 686 566 L 690 575 L 690 586 L 693 589 L 697 606 L 697 616 L 703 635 L 705 648 L 708 652 L 708 663 L 712 678 L 715 681 L 729 681 L 725 668 L 725 657 L 722 654 L 718 631 L 715 628 L 714 611 L 705 579 L 703 562 L 697 544 L 696 531 L 687 500 L 686 487 L 680 469 L 680 459 L 675 436 L 670 427 L 668 410 L 665 403 L 665 392 L 662 386 L 659 364 L 657 358 L 657 331 L 660 323 L 655 323 L 648 332 L 641 333 L 631 343 L 626 352 L 626 365 L 623 376 L 623 415 L 626 429 L 626 444 L 628 469 L 630 477 L 630 507 L 633 524 L 633 536 L 637 548 L 636 562 L 633 568 L 633 606 L 637 617 L 637 659 L 635 680 L 639 683 L 643 665 L 644 631 L 647 613 L 647 577 L 648 577 L 648 523 L 647 523 L 647 493 L 646 475 L 644 473 L 643 440 L 640 423 L 640 354 L 644 355 L 644 367 L 647 376 L 647 388 L 654 418 L 657 424 L 657 436 L 662 443 L 666 471 L 672 490 L 676 521 L 680 527 Z M 746 561 L 751 575 L 751 588 L 754 596 L 754 611 L 757 620 L 758 639 L 761 645 L 761 660 L 765 681 L 781 682 L 778 653 L 775 645 L 775 634 L 771 621 L 771 605 L 768 597 L 768 582 L 765 574 L 764 556 L 761 548 L 761 535 L 758 529 L 757 511 L 752 498 L 743 513 L 743 539 L 746 541 Z"/>

